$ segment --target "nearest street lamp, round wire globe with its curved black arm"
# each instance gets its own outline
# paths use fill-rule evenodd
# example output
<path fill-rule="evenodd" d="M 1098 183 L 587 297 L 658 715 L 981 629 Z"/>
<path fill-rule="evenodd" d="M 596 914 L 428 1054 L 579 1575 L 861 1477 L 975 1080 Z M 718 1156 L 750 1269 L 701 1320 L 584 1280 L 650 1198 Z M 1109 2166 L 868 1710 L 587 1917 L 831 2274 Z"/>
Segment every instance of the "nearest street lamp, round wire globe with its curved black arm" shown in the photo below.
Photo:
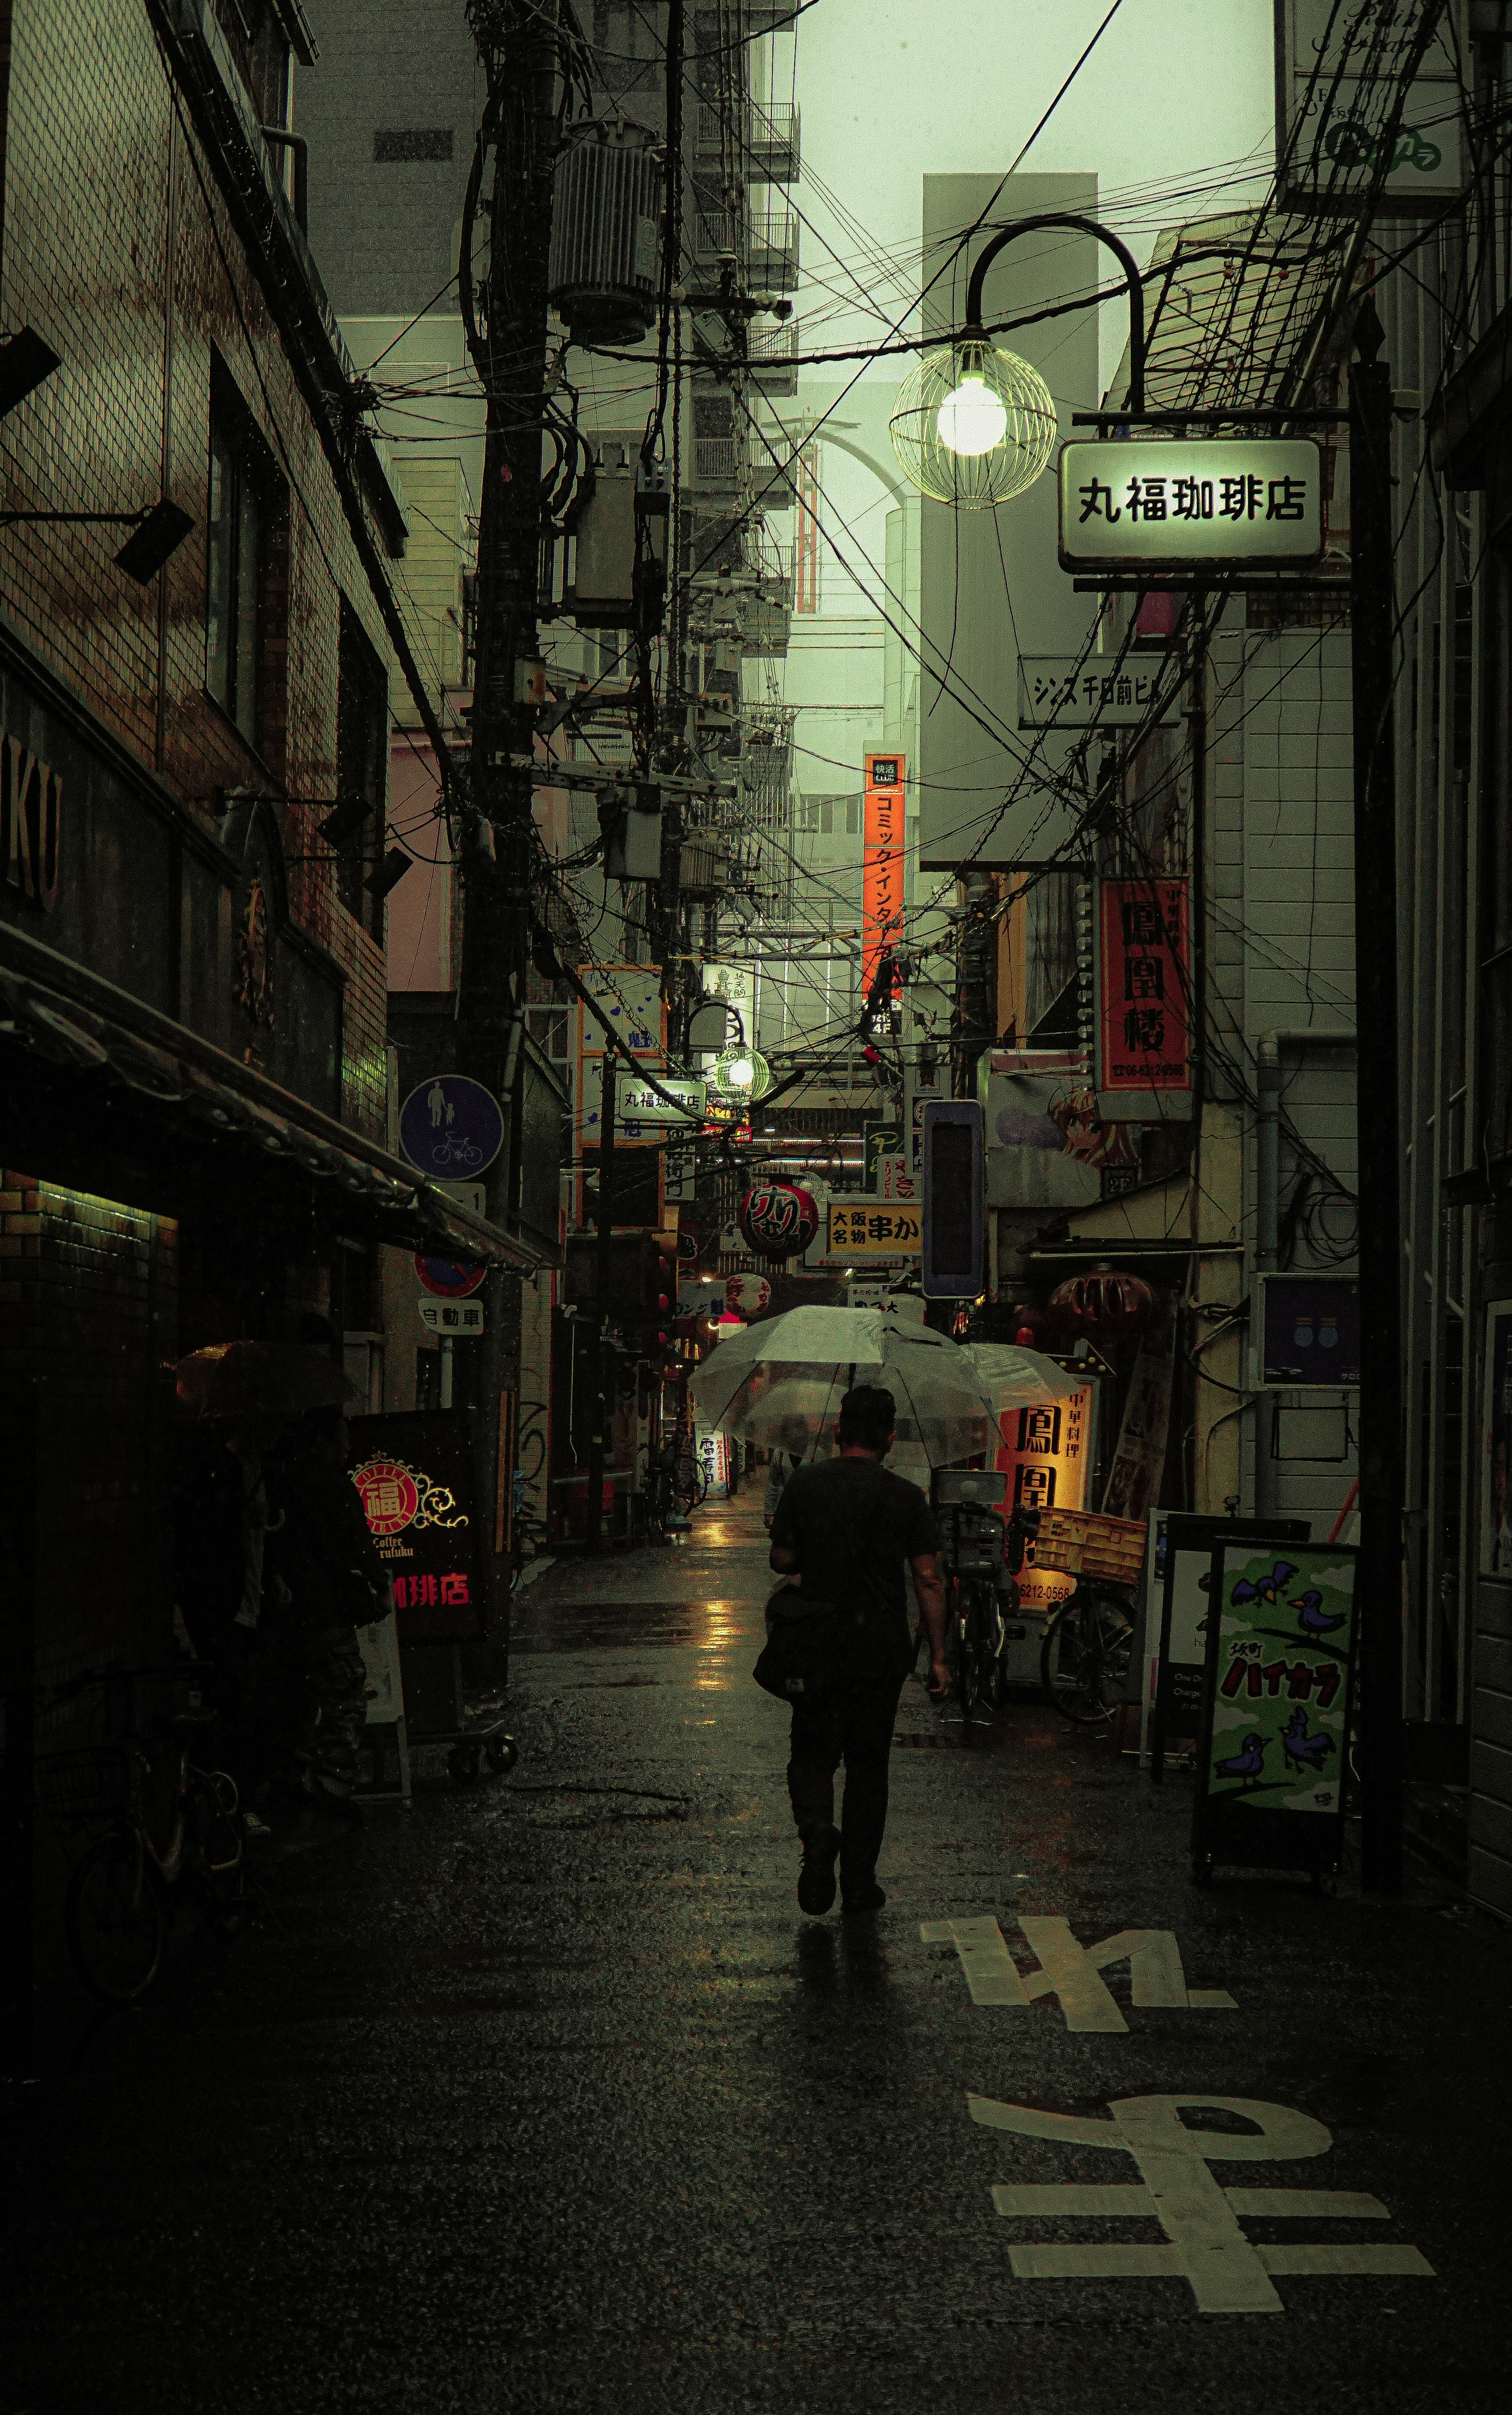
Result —
<path fill-rule="evenodd" d="M 1133 254 L 1094 217 L 1019 217 L 998 227 L 966 287 L 961 333 L 913 365 L 886 432 L 903 476 L 935 502 L 988 512 L 1027 493 L 1056 449 L 1056 396 L 1039 369 L 1000 350 L 983 326 L 983 285 L 1019 234 L 1075 227 L 1118 256 L 1128 283 L 1128 411 L 1145 411 L 1145 287 Z"/>

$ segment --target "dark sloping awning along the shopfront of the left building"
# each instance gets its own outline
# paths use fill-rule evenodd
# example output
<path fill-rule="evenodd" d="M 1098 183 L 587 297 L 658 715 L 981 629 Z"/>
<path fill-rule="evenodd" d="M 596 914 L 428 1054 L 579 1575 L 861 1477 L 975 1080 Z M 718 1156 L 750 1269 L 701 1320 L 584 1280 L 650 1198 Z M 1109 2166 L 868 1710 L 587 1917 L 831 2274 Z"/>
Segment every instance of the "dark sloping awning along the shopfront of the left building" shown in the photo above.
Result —
<path fill-rule="evenodd" d="M 164 1118 L 164 1140 L 174 1135 L 203 1145 L 213 1137 L 249 1164 L 273 1159 L 297 1169 L 328 1186 L 338 1220 L 372 1239 L 519 1273 L 551 1263 L 529 1241 L 447 1198 L 389 1150 L 271 1082 L 256 1065 L 239 1065 L 225 1048 L 14 925 L 0 927 L 0 1048 L 12 1065 L 29 1058 L 77 1077 L 80 1096 L 70 1106 L 82 1116 L 89 1113 L 89 1094 L 126 1094 L 140 1104 L 147 1137 L 150 1125 Z M 36 1171 L 46 1174 L 46 1166 Z"/>

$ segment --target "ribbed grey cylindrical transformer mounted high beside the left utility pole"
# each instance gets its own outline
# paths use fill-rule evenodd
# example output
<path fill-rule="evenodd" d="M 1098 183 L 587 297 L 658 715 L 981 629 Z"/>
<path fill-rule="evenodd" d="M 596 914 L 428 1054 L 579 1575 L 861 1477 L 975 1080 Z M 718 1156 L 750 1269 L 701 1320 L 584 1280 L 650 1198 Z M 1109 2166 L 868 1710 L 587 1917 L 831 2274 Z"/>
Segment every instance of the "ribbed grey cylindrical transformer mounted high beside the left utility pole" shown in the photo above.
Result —
<path fill-rule="evenodd" d="M 645 126 L 572 128 L 556 162 L 551 307 L 572 343 L 640 343 L 657 321 L 662 162 Z"/>

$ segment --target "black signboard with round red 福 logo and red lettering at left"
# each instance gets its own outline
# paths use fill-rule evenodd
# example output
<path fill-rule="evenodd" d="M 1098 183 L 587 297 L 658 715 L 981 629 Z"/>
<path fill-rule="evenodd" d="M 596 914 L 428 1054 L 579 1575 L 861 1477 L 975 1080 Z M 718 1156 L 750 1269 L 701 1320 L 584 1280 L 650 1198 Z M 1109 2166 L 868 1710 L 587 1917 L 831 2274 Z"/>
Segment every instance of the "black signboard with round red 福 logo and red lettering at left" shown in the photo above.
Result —
<path fill-rule="evenodd" d="M 353 1483 L 394 1579 L 401 1645 L 483 1633 L 483 1536 L 461 1410 L 353 1418 Z"/>

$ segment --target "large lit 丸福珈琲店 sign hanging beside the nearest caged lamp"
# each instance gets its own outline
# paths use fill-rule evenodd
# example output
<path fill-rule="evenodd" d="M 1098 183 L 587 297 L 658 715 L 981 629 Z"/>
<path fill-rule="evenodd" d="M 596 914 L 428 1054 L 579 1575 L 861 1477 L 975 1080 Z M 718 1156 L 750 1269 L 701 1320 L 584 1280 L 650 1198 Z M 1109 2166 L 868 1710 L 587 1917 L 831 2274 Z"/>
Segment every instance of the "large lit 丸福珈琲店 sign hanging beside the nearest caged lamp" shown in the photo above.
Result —
<path fill-rule="evenodd" d="M 1285 570 L 1324 551 L 1312 437 L 1106 437 L 1060 447 L 1063 570 Z"/>

